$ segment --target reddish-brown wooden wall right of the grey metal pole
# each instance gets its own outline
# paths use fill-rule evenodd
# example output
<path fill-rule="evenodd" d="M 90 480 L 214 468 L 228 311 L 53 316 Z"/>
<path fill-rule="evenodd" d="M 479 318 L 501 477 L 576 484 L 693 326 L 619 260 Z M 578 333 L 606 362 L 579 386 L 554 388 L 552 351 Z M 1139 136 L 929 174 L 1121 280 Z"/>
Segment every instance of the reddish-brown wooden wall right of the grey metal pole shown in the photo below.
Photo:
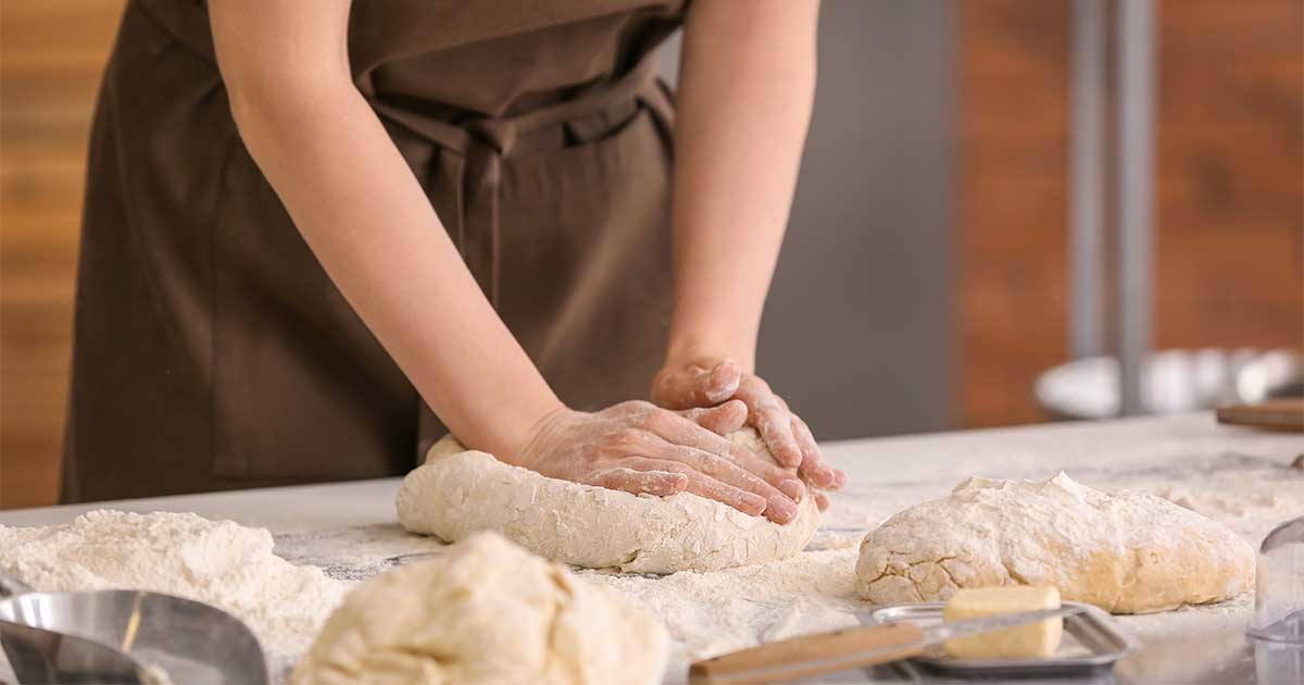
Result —
<path fill-rule="evenodd" d="M 1304 0 L 1166 0 L 1159 347 L 1304 347 Z"/>

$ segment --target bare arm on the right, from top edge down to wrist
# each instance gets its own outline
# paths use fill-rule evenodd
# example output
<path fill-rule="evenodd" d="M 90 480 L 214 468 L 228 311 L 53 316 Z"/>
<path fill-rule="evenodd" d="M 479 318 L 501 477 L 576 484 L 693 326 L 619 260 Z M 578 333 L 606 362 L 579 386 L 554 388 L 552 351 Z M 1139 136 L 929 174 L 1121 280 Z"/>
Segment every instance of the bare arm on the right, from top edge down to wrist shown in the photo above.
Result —
<path fill-rule="evenodd" d="M 691 5 L 679 76 L 670 359 L 751 371 L 815 90 L 814 0 Z"/>

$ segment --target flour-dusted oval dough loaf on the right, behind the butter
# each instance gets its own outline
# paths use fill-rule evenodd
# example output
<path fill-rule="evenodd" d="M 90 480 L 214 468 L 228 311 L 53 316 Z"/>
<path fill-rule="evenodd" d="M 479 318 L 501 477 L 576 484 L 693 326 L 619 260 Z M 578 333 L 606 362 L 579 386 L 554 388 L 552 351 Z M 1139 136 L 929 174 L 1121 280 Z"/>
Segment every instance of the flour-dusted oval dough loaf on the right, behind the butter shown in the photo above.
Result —
<path fill-rule="evenodd" d="M 1114 613 L 1148 613 L 1244 592 L 1254 551 L 1222 523 L 1153 495 L 1107 495 L 1064 474 L 970 478 L 866 535 L 855 577 L 875 604 L 1031 585 Z"/>

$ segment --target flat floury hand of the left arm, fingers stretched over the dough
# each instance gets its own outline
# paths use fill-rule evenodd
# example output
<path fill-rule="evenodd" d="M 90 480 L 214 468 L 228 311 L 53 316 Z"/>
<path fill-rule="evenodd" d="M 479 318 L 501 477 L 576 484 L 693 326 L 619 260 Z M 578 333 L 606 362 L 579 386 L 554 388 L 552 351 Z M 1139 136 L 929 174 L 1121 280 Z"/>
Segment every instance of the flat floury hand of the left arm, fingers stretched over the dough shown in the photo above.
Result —
<path fill-rule="evenodd" d="M 503 461 L 549 478 L 634 495 L 690 492 L 788 523 L 806 496 L 795 471 L 712 432 L 742 411 L 728 403 L 681 415 L 640 401 L 592 414 L 561 408 L 540 420 L 526 446 Z"/>

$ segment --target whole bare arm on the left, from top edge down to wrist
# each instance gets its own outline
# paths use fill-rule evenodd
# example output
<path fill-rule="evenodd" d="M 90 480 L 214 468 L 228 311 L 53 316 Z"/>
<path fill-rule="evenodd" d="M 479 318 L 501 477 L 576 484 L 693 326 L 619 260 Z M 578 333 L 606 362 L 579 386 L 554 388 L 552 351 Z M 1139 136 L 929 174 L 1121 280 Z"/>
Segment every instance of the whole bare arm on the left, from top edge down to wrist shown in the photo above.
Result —
<path fill-rule="evenodd" d="M 249 154 L 363 321 L 467 445 L 512 454 L 561 402 L 352 84 L 348 0 L 210 4 Z M 477 369 L 473 374 L 464 369 Z"/>

